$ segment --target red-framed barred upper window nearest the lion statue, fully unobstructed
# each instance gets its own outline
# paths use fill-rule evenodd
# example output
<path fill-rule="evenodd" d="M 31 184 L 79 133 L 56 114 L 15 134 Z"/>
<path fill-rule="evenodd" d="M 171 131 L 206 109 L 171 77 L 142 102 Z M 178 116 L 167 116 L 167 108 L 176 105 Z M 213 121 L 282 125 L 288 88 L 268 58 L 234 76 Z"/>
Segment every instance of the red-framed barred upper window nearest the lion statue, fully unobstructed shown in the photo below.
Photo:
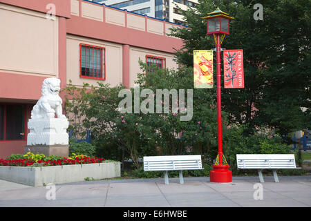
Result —
<path fill-rule="evenodd" d="M 80 77 L 106 79 L 105 48 L 80 44 Z"/>

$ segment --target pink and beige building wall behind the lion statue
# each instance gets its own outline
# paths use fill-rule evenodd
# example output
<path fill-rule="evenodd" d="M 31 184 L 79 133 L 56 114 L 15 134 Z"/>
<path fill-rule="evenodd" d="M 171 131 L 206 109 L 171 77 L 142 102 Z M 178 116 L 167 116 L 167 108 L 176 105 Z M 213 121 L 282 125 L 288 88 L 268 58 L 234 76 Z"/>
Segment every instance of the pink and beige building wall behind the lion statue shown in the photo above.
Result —
<path fill-rule="evenodd" d="M 55 19 L 46 19 L 48 4 L 55 6 Z M 126 87 L 134 86 L 138 58 L 158 55 L 167 68 L 176 68 L 173 48 L 182 46 L 167 36 L 169 28 L 181 26 L 82 0 L 0 0 L 0 19 L 8 21 L 0 23 L 6 30 L 0 35 L 0 47 L 6 47 L 0 50 L 0 104 L 24 104 L 26 122 L 46 77 L 61 79 L 62 88 L 69 79 L 77 86 L 96 83 L 79 78 L 79 43 L 106 47 L 104 83 Z M 0 141 L 0 158 L 23 153 L 25 145 L 26 140 Z"/>

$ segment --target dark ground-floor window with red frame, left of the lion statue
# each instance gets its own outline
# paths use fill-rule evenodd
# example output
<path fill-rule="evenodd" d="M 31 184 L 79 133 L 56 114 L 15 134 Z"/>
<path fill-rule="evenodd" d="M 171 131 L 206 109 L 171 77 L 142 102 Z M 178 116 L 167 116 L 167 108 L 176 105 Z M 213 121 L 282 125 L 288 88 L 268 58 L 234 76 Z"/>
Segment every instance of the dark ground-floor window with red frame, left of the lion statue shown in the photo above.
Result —
<path fill-rule="evenodd" d="M 0 141 L 25 140 L 24 105 L 0 104 Z"/>

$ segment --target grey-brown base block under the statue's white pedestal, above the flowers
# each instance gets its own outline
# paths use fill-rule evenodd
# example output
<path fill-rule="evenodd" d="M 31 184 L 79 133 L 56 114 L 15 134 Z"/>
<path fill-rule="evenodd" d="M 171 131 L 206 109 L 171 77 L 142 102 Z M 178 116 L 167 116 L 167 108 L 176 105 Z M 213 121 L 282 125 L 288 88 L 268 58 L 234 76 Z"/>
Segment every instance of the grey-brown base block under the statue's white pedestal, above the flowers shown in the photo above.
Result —
<path fill-rule="evenodd" d="M 24 146 L 23 152 L 26 154 L 28 152 L 31 153 L 43 153 L 46 157 L 50 155 L 57 155 L 60 157 L 68 157 L 69 156 L 69 145 L 32 145 L 32 146 Z"/>

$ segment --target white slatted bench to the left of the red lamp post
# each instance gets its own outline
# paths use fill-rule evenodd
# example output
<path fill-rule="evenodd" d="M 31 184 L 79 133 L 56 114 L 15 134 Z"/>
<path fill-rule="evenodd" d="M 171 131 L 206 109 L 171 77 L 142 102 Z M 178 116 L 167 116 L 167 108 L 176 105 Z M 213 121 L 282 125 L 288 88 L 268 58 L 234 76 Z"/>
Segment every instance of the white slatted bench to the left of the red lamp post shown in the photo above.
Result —
<path fill-rule="evenodd" d="M 144 157 L 144 171 L 164 171 L 165 184 L 169 184 L 168 171 L 179 171 L 179 181 L 183 184 L 182 171 L 187 170 L 202 170 L 201 155 Z"/>

